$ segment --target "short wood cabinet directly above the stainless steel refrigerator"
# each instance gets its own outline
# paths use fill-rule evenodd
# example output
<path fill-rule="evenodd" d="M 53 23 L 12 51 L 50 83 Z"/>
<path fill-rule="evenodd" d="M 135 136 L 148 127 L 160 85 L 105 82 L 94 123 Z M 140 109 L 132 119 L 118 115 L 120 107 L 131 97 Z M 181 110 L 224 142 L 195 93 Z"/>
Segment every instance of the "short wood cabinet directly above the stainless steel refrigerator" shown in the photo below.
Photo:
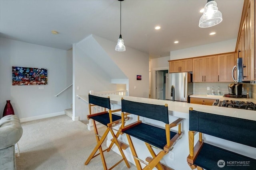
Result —
<path fill-rule="evenodd" d="M 192 72 L 192 59 L 169 61 L 169 72 Z"/>

